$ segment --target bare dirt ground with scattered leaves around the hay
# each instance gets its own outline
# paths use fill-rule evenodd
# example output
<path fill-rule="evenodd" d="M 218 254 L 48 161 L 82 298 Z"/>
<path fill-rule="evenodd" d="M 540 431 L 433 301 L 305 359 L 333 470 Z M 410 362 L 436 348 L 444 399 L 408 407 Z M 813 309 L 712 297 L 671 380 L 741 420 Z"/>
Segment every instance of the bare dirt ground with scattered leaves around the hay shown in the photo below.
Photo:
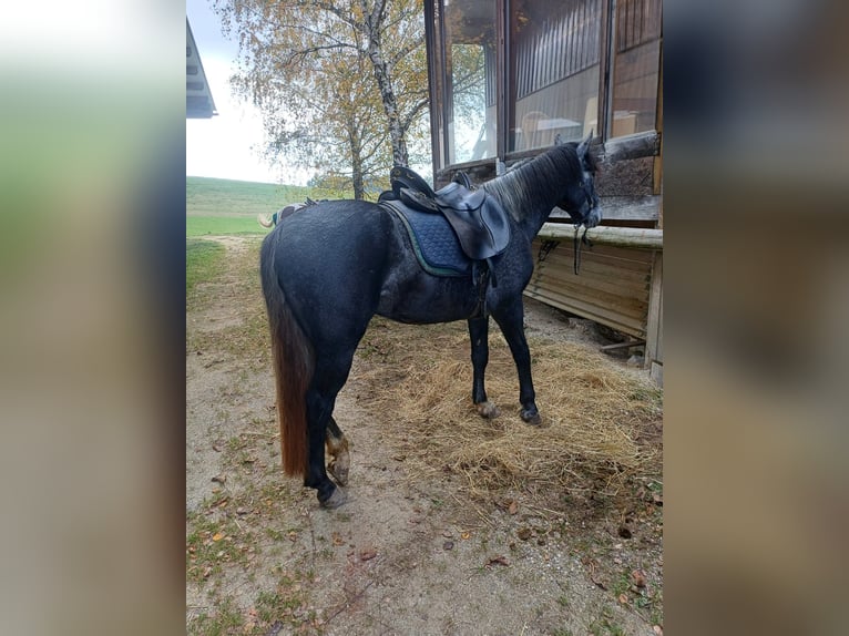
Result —
<path fill-rule="evenodd" d="M 392 413 L 365 404 L 375 362 L 358 356 L 335 411 L 349 500 L 319 509 L 280 470 L 259 240 L 219 240 L 226 271 L 186 314 L 190 634 L 662 634 L 659 463 L 616 496 L 417 479 L 387 434 Z M 589 321 L 525 310 L 529 337 L 610 342 Z M 625 360 L 610 365 L 641 373 Z"/>

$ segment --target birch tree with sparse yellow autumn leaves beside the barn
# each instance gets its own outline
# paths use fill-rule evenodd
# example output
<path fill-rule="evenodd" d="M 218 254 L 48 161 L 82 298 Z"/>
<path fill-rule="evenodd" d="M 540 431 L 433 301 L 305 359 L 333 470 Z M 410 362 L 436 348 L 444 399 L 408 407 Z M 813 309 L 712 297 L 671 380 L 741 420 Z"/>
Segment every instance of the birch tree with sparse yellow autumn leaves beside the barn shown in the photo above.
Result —
<path fill-rule="evenodd" d="M 239 42 L 235 90 L 268 153 L 350 175 L 355 196 L 427 139 L 422 0 L 215 0 Z M 417 139 L 421 137 L 421 139 Z"/>

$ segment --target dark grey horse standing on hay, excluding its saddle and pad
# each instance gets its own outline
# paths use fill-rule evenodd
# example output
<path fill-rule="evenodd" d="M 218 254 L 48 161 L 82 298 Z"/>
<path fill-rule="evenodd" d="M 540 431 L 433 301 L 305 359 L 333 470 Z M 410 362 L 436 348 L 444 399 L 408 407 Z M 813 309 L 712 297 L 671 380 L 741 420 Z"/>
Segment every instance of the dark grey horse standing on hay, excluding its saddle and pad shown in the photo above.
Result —
<path fill-rule="evenodd" d="M 555 206 L 575 226 L 602 218 L 591 136 L 554 145 L 481 188 L 508 213 L 510 242 L 489 259 L 492 281 L 434 276 L 413 254 L 402 220 L 376 203 L 328 201 L 278 219 L 259 257 L 272 339 L 285 474 L 304 476 L 320 506 L 347 494 L 348 440 L 333 417 L 336 398 L 374 316 L 426 325 L 467 320 L 472 401 L 483 418 L 499 410 L 487 397 L 489 317 L 510 347 L 519 375 L 520 416 L 540 425 L 524 336 L 522 291 L 533 273 L 531 243 Z M 483 302 L 481 302 L 483 298 Z M 330 455 L 326 466 L 326 453 Z M 328 476 L 328 470 L 334 480 Z"/>

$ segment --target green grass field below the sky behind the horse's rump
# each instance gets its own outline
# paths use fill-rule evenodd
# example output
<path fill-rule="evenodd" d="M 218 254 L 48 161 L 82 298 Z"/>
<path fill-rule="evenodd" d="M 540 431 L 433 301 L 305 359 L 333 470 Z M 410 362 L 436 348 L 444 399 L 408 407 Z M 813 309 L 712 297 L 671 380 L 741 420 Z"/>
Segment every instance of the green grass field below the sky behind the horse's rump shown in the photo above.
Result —
<path fill-rule="evenodd" d="M 257 214 L 272 214 L 306 197 L 340 198 L 306 186 L 187 176 L 186 236 L 265 234 Z"/>

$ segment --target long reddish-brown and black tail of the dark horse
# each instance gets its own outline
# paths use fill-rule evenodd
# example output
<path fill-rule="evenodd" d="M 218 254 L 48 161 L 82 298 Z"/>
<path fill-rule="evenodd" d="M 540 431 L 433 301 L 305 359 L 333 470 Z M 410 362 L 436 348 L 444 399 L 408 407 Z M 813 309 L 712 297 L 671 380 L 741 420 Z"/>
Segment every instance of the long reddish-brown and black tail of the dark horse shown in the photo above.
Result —
<path fill-rule="evenodd" d="M 279 233 L 273 232 L 263 242 L 259 273 L 272 331 L 283 470 L 288 475 L 300 475 L 307 471 L 306 393 L 315 360 L 313 347 L 291 312 L 275 271 L 278 237 Z"/>

